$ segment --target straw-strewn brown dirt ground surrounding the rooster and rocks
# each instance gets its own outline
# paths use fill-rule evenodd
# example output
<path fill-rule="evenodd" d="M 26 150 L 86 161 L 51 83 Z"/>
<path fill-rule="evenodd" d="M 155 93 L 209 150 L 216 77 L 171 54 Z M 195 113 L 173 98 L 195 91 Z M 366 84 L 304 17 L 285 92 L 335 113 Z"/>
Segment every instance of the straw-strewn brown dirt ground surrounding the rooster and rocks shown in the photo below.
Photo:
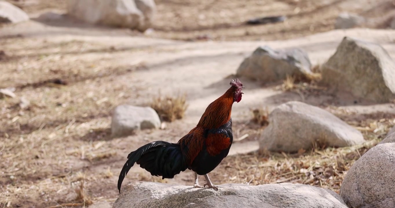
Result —
<path fill-rule="evenodd" d="M 0 207 L 111 205 L 118 196 L 117 179 L 127 154 L 150 141 L 176 142 L 186 134 L 206 106 L 228 88 L 235 70 L 256 46 L 300 46 L 319 64 L 344 35 L 354 35 L 380 43 L 395 58 L 391 30 L 318 34 L 333 29 L 340 11 L 378 17 L 395 7 L 391 1 L 157 0 L 157 20 L 153 31 L 145 34 L 88 26 L 63 16 L 53 21 L 38 18 L 49 11 L 64 13 L 64 0 L 9 2 L 23 8 L 32 20 L 0 27 L 0 50 L 4 51 L 0 88 L 15 87 L 17 96 L 0 99 Z M 247 19 L 267 15 L 288 19 L 243 25 Z M 243 100 L 233 107 L 233 131 L 235 138 L 248 137 L 236 141 L 231 155 L 210 174 L 215 184 L 297 182 L 338 191 L 352 163 L 395 123 L 393 103 L 350 100 L 318 88 L 284 92 L 279 90 L 282 82 L 242 81 L 248 87 Z M 115 106 L 147 105 L 159 91 L 187 93 L 183 119 L 166 123 L 163 130 L 110 137 Z M 25 107 L 21 99 L 29 104 Z M 335 113 L 361 130 L 367 143 L 295 155 L 247 153 L 257 149 L 265 128 L 251 121 L 251 110 L 270 110 L 290 100 Z M 133 167 L 124 185 L 134 180 L 192 185 L 193 173 L 160 180 Z"/>

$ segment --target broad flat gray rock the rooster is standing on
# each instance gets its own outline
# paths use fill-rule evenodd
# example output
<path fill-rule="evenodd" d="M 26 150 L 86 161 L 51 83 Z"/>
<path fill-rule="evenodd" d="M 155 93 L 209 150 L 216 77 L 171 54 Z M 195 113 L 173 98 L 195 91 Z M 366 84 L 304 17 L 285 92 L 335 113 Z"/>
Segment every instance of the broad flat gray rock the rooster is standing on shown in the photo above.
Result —
<path fill-rule="evenodd" d="M 121 189 L 113 208 L 347 208 L 337 193 L 310 185 L 221 186 L 214 191 L 192 186 L 132 182 Z"/>

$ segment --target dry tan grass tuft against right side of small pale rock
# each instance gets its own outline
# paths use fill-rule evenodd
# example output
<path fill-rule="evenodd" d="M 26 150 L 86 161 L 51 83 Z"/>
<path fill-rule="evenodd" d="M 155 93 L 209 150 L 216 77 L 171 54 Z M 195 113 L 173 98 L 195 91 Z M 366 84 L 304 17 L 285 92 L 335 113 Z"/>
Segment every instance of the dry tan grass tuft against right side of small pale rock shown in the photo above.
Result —
<path fill-rule="evenodd" d="M 171 97 L 169 95 L 162 97 L 159 94 L 158 97 L 152 99 L 150 106 L 158 113 L 162 121 L 169 122 L 182 119 L 186 108 L 188 108 L 186 94 L 177 95 L 176 97 Z"/>

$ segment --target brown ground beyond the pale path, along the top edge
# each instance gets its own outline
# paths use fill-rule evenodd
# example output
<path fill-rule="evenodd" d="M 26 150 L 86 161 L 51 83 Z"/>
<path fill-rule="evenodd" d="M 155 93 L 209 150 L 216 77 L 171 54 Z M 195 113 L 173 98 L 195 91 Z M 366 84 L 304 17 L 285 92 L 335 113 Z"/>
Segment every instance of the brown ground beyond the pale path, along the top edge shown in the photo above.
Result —
<path fill-rule="evenodd" d="M 66 0 L 8 0 L 32 16 L 48 11 L 65 13 Z M 374 19 L 372 27 L 385 28 L 395 15 L 393 0 L 155 0 L 154 32 L 145 36 L 177 39 L 241 41 L 282 40 L 333 30 L 340 12 Z M 246 25 L 249 19 L 281 16 L 284 22 Z M 75 26 L 75 24 L 74 24 Z"/>

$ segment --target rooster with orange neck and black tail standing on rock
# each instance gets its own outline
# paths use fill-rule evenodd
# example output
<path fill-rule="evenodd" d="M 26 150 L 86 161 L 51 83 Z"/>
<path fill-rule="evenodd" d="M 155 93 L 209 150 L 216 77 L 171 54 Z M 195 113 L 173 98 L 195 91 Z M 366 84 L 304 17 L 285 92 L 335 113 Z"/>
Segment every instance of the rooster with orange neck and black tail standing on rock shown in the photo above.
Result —
<path fill-rule="evenodd" d="M 178 143 L 152 141 L 130 152 L 118 179 L 118 190 L 130 168 L 137 163 L 153 176 L 173 178 L 181 171 L 195 172 L 194 188 L 218 190 L 207 175 L 228 156 L 233 142 L 231 110 L 234 102 L 240 102 L 244 88 L 239 79 L 231 80 L 231 87 L 209 104 L 195 128 Z M 200 186 L 198 175 L 204 175 L 206 184 Z"/>

